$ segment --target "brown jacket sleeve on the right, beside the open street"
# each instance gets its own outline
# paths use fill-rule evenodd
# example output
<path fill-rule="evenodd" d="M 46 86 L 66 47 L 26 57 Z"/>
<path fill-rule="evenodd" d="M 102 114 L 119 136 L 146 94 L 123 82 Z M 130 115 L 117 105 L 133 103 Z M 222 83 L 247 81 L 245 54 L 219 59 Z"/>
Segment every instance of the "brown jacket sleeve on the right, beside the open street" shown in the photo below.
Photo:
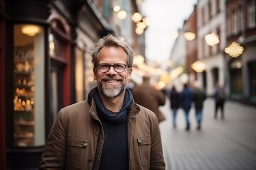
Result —
<path fill-rule="evenodd" d="M 151 136 L 151 156 L 150 169 L 161 170 L 165 169 L 163 148 L 161 143 L 161 133 L 157 119 L 154 120 L 153 132 Z"/>

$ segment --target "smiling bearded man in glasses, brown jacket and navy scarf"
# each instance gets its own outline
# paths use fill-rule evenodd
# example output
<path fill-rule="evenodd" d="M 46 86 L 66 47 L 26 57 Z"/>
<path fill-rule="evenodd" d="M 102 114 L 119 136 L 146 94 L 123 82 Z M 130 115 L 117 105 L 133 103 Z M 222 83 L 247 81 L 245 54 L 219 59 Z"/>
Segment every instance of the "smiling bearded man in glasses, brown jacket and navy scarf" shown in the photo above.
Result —
<path fill-rule="evenodd" d="M 165 169 L 156 115 L 134 103 L 132 48 L 114 35 L 92 50 L 97 87 L 60 110 L 39 169 Z"/>

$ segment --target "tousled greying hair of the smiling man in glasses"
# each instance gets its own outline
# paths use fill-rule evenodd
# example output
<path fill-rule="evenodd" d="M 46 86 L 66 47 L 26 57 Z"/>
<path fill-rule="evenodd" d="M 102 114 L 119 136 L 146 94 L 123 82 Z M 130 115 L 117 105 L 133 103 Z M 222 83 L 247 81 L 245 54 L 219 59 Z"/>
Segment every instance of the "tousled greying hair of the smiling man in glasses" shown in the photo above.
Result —
<path fill-rule="evenodd" d="M 127 65 L 128 67 L 132 67 L 133 64 L 133 55 L 134 52 L 132 47 L 124 40 L 122 37 L 118 37 L 117 35 L 106 35 L 95 43 L 94 48 L 92 49 L 92 64 L 93 68 L 97 67 L 97 56 L 102 50 L 103 47 L 122 47 L 124 52 L 127 54 Z"/>

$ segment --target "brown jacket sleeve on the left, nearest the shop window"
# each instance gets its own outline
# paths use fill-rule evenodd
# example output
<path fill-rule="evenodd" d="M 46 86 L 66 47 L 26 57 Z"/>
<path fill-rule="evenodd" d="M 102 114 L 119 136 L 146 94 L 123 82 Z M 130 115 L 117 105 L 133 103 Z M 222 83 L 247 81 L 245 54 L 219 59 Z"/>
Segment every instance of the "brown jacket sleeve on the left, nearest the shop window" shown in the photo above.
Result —
<path fill-rule="evenodd" d="M 66 135 L 65 117 L 60 111 L 48 135 L 39 169 L 65 169 Z"/>

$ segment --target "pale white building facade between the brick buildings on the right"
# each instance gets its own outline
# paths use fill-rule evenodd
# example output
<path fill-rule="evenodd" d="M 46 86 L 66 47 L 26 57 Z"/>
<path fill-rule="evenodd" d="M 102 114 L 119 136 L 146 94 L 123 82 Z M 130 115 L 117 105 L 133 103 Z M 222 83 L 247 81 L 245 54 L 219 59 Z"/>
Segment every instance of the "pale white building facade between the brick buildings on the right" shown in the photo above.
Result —
<path fill-rule="evenodd" d="M 197 8 L 198 60 L 206 64 L 206 70 L 198 76 L 208 95 L 213 94 L 215 84 L 225 86 L 225 0 L 200 0 Z"/>

